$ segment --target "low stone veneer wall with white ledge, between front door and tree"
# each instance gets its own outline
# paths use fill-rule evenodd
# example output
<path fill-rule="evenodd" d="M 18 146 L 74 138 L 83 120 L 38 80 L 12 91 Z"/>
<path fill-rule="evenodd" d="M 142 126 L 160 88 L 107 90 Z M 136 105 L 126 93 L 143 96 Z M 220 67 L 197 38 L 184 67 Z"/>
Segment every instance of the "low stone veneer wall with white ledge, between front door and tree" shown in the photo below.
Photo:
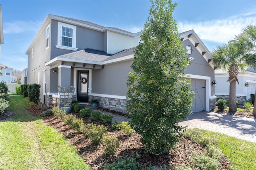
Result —
<path fill-rule="evenodd" d="M 89 102 L 92 99 L 99 99 L 99 107 L 126 113 L 126 104 L 128 103 L 128 101 L 126 99 L 115 99 L 115 98 L 110 98 L 110 97 L 89 96 Z"/>

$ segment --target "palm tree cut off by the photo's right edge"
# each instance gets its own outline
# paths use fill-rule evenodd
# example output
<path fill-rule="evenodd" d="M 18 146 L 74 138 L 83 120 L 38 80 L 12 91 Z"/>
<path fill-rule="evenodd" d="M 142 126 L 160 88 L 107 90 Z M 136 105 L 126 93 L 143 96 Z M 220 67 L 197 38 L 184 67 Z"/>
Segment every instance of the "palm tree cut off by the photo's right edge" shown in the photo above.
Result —
<path fill-rule="evenodd" d="M 246 50 L 246 64 L 256 69 L 256 26 L 248 25 L 235 37 L 238 46 Z M 256 91 L 255 91 L 256 97 Z M 256 100 L 254 99 L 253 115 L 256 117 Z"/>

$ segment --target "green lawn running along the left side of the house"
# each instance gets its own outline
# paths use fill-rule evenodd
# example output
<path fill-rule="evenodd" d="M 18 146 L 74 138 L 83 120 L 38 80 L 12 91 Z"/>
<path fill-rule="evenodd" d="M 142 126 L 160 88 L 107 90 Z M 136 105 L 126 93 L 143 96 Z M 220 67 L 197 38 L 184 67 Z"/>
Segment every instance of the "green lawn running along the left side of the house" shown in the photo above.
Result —
<path fill-rule="evenodd" d="M 66 138 L 26 111 L 27 98 L 9 98 L 14 117 L 0 122 L 1 170 L 90 169 Z"/>

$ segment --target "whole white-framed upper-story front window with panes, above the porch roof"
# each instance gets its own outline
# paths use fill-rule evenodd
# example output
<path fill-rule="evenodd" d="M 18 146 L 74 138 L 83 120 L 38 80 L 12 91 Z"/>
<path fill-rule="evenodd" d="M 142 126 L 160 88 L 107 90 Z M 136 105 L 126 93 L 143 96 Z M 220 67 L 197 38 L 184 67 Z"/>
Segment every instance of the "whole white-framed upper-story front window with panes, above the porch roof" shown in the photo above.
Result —
<path fill-rule="evenodd" d="M 76 26 L 58 22 L 57 48 L 76 51 Z"/>

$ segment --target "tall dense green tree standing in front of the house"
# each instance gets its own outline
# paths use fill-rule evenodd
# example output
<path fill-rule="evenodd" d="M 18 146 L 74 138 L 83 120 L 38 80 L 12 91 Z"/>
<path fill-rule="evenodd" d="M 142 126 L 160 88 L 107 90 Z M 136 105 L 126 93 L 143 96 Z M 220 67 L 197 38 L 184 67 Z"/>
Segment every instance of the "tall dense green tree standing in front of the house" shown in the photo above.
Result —
<path fill-rule="evenodd" d="M 146 152 L 161 154 L 175 148 L 183 128 L 178 122 L 191 113 L 190 81 L 182 78 L 189 64 L 182 48 L 171 0 L 151 1 L 141 42 L 129 73 L 127 111 L 142 135 Z"/>

